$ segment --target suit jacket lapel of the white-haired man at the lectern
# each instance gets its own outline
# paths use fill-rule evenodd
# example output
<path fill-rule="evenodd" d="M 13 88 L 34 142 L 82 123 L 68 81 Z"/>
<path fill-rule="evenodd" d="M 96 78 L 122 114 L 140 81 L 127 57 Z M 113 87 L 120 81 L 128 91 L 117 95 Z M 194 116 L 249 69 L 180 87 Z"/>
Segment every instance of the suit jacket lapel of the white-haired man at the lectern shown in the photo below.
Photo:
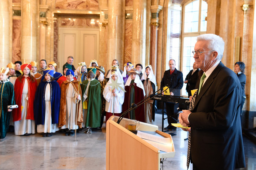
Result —
<path fill-rule="evenodd" d="M 209 87 L 211 86 L 211 84 L 213 83 L 213 81 L 215 80 L 215 77 L 217 76 L 219 70 L 221 70 L 221 68 L 224 66 L 224 64 L 222 62 L 220 62 L 218 64 L 218 66 L 213 70 L 213 72 L 211 73 L 211 75 L 209 76 L 209 78 L 207 78 L 207 80 L 204 82 L 203 87 L 200 90 L 200 93 L 197 95 L 196 97 L 196 101 L 195 101 L 195 105 L 194 108 L 196 108 L 198 102 L 200 101 L 201 97 L 203 96 L 203 94 L 205 92 L 207 92 L 207 90 L 209 89 Z"/>

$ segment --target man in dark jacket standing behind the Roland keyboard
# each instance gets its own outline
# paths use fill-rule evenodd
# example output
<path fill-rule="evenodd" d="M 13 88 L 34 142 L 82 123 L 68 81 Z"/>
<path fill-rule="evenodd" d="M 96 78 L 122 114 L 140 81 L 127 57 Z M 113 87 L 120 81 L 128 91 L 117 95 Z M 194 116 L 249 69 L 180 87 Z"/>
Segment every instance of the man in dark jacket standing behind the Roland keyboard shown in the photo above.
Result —
<path fill-rule="evenodd" d="M 164 77 L 161 81 L 161 88 L 170 83 L 169 92 L 171 96 L 180 96 L 181 88 L 183 86 L 183 74 L 181 71 L 175 68 L 176 63 L 174 59 L 169 60 L 169 70 L 166 70 Z M 165 130 L 176 130 L 176 127 L 172 126 L 171 123 L 177 123 L 177 108 L 179 104 L 177 103 L 166 103 L 166 114 L 168 117 L 168 126 Z"/>

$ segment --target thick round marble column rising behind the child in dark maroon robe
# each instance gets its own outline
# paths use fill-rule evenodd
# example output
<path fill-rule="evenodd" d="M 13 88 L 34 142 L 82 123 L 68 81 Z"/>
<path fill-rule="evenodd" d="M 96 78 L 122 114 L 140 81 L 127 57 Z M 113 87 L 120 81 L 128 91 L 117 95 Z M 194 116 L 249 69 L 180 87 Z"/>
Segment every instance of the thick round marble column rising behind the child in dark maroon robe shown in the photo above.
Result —
<path fill-rule="evenodd" d="M 145 66 L 147 0 L 133 1 L 132 63 Z"/>

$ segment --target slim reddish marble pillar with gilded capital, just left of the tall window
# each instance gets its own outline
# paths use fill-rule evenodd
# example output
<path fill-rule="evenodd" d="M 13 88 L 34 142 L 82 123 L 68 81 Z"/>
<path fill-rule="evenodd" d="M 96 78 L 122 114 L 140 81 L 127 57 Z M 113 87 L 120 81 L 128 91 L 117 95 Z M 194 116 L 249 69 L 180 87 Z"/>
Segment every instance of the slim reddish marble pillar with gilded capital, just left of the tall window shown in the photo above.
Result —
<path fill-rule="evenodd" d="M 151 6 L 151 51 L 150 63 L 154 70 L 154 75 L 157 75 L 157 46 L 158 46 L 158 25 L 159 12 L 162 10 L 161 5 Z"/>

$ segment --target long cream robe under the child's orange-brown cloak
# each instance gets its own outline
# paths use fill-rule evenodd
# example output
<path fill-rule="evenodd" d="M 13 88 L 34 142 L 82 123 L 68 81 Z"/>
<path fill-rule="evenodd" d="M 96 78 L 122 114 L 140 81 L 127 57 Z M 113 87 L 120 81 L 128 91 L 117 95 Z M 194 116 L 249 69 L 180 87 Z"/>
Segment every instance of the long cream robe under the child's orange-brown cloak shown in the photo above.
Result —
<path fill-rule="evenodd" d="M 72 129 L 78 129 L 78 125 L 75 126 L 75 117 L 76 117 L 76 98 L 78 96 L 78 92 L 76 92 L 73 83 L 69 83 L 68 89 L 67 89 L 67 124 L 64 126 L 61 126 L 60 129 L 66 129 L 69 130 Z"/>

